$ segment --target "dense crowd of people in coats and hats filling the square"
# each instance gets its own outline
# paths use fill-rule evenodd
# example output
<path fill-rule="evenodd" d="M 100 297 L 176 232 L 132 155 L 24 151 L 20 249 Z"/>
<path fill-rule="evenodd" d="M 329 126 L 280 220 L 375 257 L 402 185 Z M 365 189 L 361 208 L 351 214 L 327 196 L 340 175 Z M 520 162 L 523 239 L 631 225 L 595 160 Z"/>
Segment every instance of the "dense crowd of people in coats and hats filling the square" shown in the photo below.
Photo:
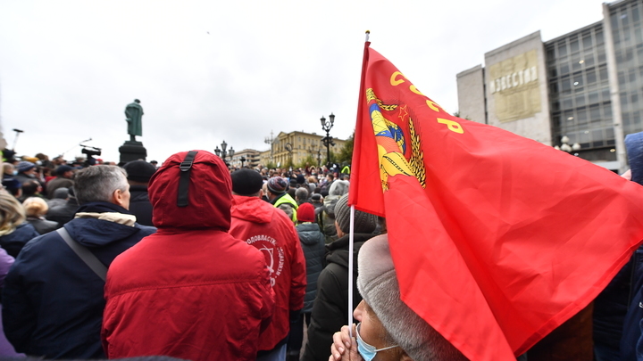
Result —
<path fill-rule="evenodd" d="M 83 163 L 4 160 L 0 358 L 466 359 L 401 300 L 386 220 L 355 210 L 350 237 L 348 168 Z M 519 359 L 605 355 L 609 300 Z"/>

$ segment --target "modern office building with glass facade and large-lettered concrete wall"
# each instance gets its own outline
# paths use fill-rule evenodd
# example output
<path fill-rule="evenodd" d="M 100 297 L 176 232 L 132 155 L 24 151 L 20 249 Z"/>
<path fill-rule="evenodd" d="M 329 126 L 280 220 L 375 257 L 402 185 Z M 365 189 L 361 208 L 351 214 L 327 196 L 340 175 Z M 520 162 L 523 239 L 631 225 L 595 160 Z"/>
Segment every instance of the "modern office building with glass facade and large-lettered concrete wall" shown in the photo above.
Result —
<path fill-rule="evenodd" d="M 623 171 L 624 135 L 643 131 L 643 0 L 603 4 L 603 14 L 485 53 L 484 66 L 457 75 L 460 117 Z"/>

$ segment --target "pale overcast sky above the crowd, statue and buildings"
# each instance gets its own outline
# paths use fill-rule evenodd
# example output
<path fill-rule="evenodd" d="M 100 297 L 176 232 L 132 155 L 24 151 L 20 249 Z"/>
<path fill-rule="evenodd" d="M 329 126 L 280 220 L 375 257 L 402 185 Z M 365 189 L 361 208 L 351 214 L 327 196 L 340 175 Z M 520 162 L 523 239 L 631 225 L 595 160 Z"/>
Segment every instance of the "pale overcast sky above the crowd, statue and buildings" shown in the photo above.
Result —
<path fill-rule="evenodd" d="M 118 161 L 124 109 L 141 100 L 148 160 L 266 150 L 274 132 L 355 128 L 364 31 L 372 48 L 447 111 L 455 75 L 540 30 L 602 19 L 600 0 L 0 1 L 0 127 L 16 151 L 66 159 L 78 144 Z"/>

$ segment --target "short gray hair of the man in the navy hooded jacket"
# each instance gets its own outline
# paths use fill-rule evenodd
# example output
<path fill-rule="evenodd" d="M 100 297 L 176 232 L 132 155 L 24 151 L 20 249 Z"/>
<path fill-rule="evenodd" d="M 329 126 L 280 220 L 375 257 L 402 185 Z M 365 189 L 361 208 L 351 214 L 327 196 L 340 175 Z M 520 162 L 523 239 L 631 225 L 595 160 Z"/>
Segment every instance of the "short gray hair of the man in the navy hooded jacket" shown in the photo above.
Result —
<path fill-rule="evenodd" d="M 112 201 L 116 190 L 127 191 L 127 172 L 116 166 L 92 166 L 80 169 L 74 180 L 74 194 L 79 204 Z"/>

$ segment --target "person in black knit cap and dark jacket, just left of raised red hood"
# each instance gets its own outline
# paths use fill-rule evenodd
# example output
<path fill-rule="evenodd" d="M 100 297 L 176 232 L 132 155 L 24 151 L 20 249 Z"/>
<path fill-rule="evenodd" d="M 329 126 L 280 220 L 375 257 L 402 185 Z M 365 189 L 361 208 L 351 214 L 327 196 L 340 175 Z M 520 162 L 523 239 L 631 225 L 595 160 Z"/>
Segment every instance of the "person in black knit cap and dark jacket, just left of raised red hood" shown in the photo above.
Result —
<path fill-rule="evenodd" d="M 132 160 L 126 163 L 123 168 L 128 172 L 129 211 L 137 217 L 137 222 L 143 226 L 154 226 L 152 224 L 152 203 L 147 194 L 147 184 L 156 168 L 145 160 Z"/>

